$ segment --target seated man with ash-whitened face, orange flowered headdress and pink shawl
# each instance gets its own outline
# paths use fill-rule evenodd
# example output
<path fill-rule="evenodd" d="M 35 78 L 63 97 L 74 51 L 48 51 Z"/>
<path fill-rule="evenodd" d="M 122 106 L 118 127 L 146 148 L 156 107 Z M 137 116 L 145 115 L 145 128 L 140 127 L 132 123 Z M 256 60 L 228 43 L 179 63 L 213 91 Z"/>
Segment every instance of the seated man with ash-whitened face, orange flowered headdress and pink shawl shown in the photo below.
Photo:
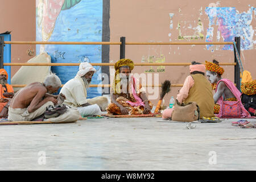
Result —
<path fill-rule="evenodd" d="M 215 90 L 216 93 L 213 96 L 214 103 L 216 104 L 214 105 L 214 114 L 219 118 L 232 117 L 232 115 L 233 117 L 250 117 L 250 114 L 242 105 L 240 91 L 232 81 L 221 77 L 224 73 L 224 69 L 218 65 L 218 61 L 213 60 L 213 63 L 205 61 L 205 68 L 207 69 L 207 77 L 211 84 L 217 83 Z M 233 104 L 235 105 L 228 106 L 226 105 L 228 104 L 226 101 L 236 101 L 237 104 L 234 102 Z M 240 113 L 232 110 L 232 108 L 235 107 L 240 110 Z"/>

